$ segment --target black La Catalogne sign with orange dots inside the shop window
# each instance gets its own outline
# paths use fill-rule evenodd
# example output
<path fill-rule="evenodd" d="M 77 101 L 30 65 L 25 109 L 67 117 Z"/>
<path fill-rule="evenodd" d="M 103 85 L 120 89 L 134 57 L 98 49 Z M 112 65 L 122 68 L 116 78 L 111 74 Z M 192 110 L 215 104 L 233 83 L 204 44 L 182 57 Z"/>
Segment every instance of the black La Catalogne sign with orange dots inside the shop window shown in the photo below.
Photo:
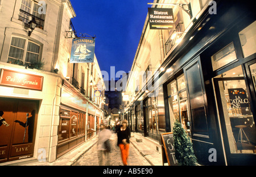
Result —
<path fill-rule="evenodd" d="M 232 108 L 249 107 L 249 100 L 243 88 L 228 88 L 229 102 Z"/>

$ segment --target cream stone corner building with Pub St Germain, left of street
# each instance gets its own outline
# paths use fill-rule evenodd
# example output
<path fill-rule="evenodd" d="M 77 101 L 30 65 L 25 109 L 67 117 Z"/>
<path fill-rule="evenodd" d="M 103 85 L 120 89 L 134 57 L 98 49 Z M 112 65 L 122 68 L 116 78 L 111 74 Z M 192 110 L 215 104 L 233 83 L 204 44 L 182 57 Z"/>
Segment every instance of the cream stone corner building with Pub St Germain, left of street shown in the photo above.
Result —
<path fill-rule="evenodd" d="M 53 162 L 96 135 L 105 86 L 96 56 L 70 63 L 75 16 L 69 0 L 0 1 L 1 163 Z"/>

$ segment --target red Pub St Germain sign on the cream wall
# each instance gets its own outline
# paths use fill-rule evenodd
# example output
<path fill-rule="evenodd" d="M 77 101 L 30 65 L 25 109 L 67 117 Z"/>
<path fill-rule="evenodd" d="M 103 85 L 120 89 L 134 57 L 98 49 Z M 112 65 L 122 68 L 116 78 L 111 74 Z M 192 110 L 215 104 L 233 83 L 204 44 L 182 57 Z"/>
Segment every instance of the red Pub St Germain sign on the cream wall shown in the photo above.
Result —
<path fill-rule="evenodd" d="M 43 76 L 2 69 L 0 85 L 42 90 Z"/>

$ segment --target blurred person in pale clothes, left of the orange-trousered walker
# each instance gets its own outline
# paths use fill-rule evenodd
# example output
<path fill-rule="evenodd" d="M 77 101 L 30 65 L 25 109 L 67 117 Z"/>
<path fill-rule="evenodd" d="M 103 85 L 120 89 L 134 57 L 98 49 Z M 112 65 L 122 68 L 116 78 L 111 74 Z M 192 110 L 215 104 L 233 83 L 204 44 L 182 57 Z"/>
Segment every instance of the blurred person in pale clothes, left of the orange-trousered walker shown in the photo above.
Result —
<path fill-rule="evenodd" d="M 97 151 L 98 151 L 98 165 L 110 165 L 109 153 L 111 151 L 110 137 L 111 132 L 106 129 L 104 124 L 100 125 L 100 133 L 98 134 Z"/>

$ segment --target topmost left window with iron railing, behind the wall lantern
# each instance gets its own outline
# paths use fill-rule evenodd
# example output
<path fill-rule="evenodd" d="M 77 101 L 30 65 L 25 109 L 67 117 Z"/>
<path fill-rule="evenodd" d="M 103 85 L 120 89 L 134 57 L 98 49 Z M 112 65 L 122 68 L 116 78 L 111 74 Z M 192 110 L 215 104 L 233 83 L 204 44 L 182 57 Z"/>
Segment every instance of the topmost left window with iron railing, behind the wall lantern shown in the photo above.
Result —
<path fill-rule="evenodd" d="M 19 20 L 22 20 L 24 23 L 30 22 L 32 17 L 35 17 L 38 27 L 44 28 L 44 19 L 46 18 L 46 14 L 44 12 L 40 12 L 39 4 L 36 1 L 32 0 L 22 0 L 19 10 Z M 44 7 L 46 8 L 46 7 Z M 40 14 L 39 14 L 40 12 Z"/>

